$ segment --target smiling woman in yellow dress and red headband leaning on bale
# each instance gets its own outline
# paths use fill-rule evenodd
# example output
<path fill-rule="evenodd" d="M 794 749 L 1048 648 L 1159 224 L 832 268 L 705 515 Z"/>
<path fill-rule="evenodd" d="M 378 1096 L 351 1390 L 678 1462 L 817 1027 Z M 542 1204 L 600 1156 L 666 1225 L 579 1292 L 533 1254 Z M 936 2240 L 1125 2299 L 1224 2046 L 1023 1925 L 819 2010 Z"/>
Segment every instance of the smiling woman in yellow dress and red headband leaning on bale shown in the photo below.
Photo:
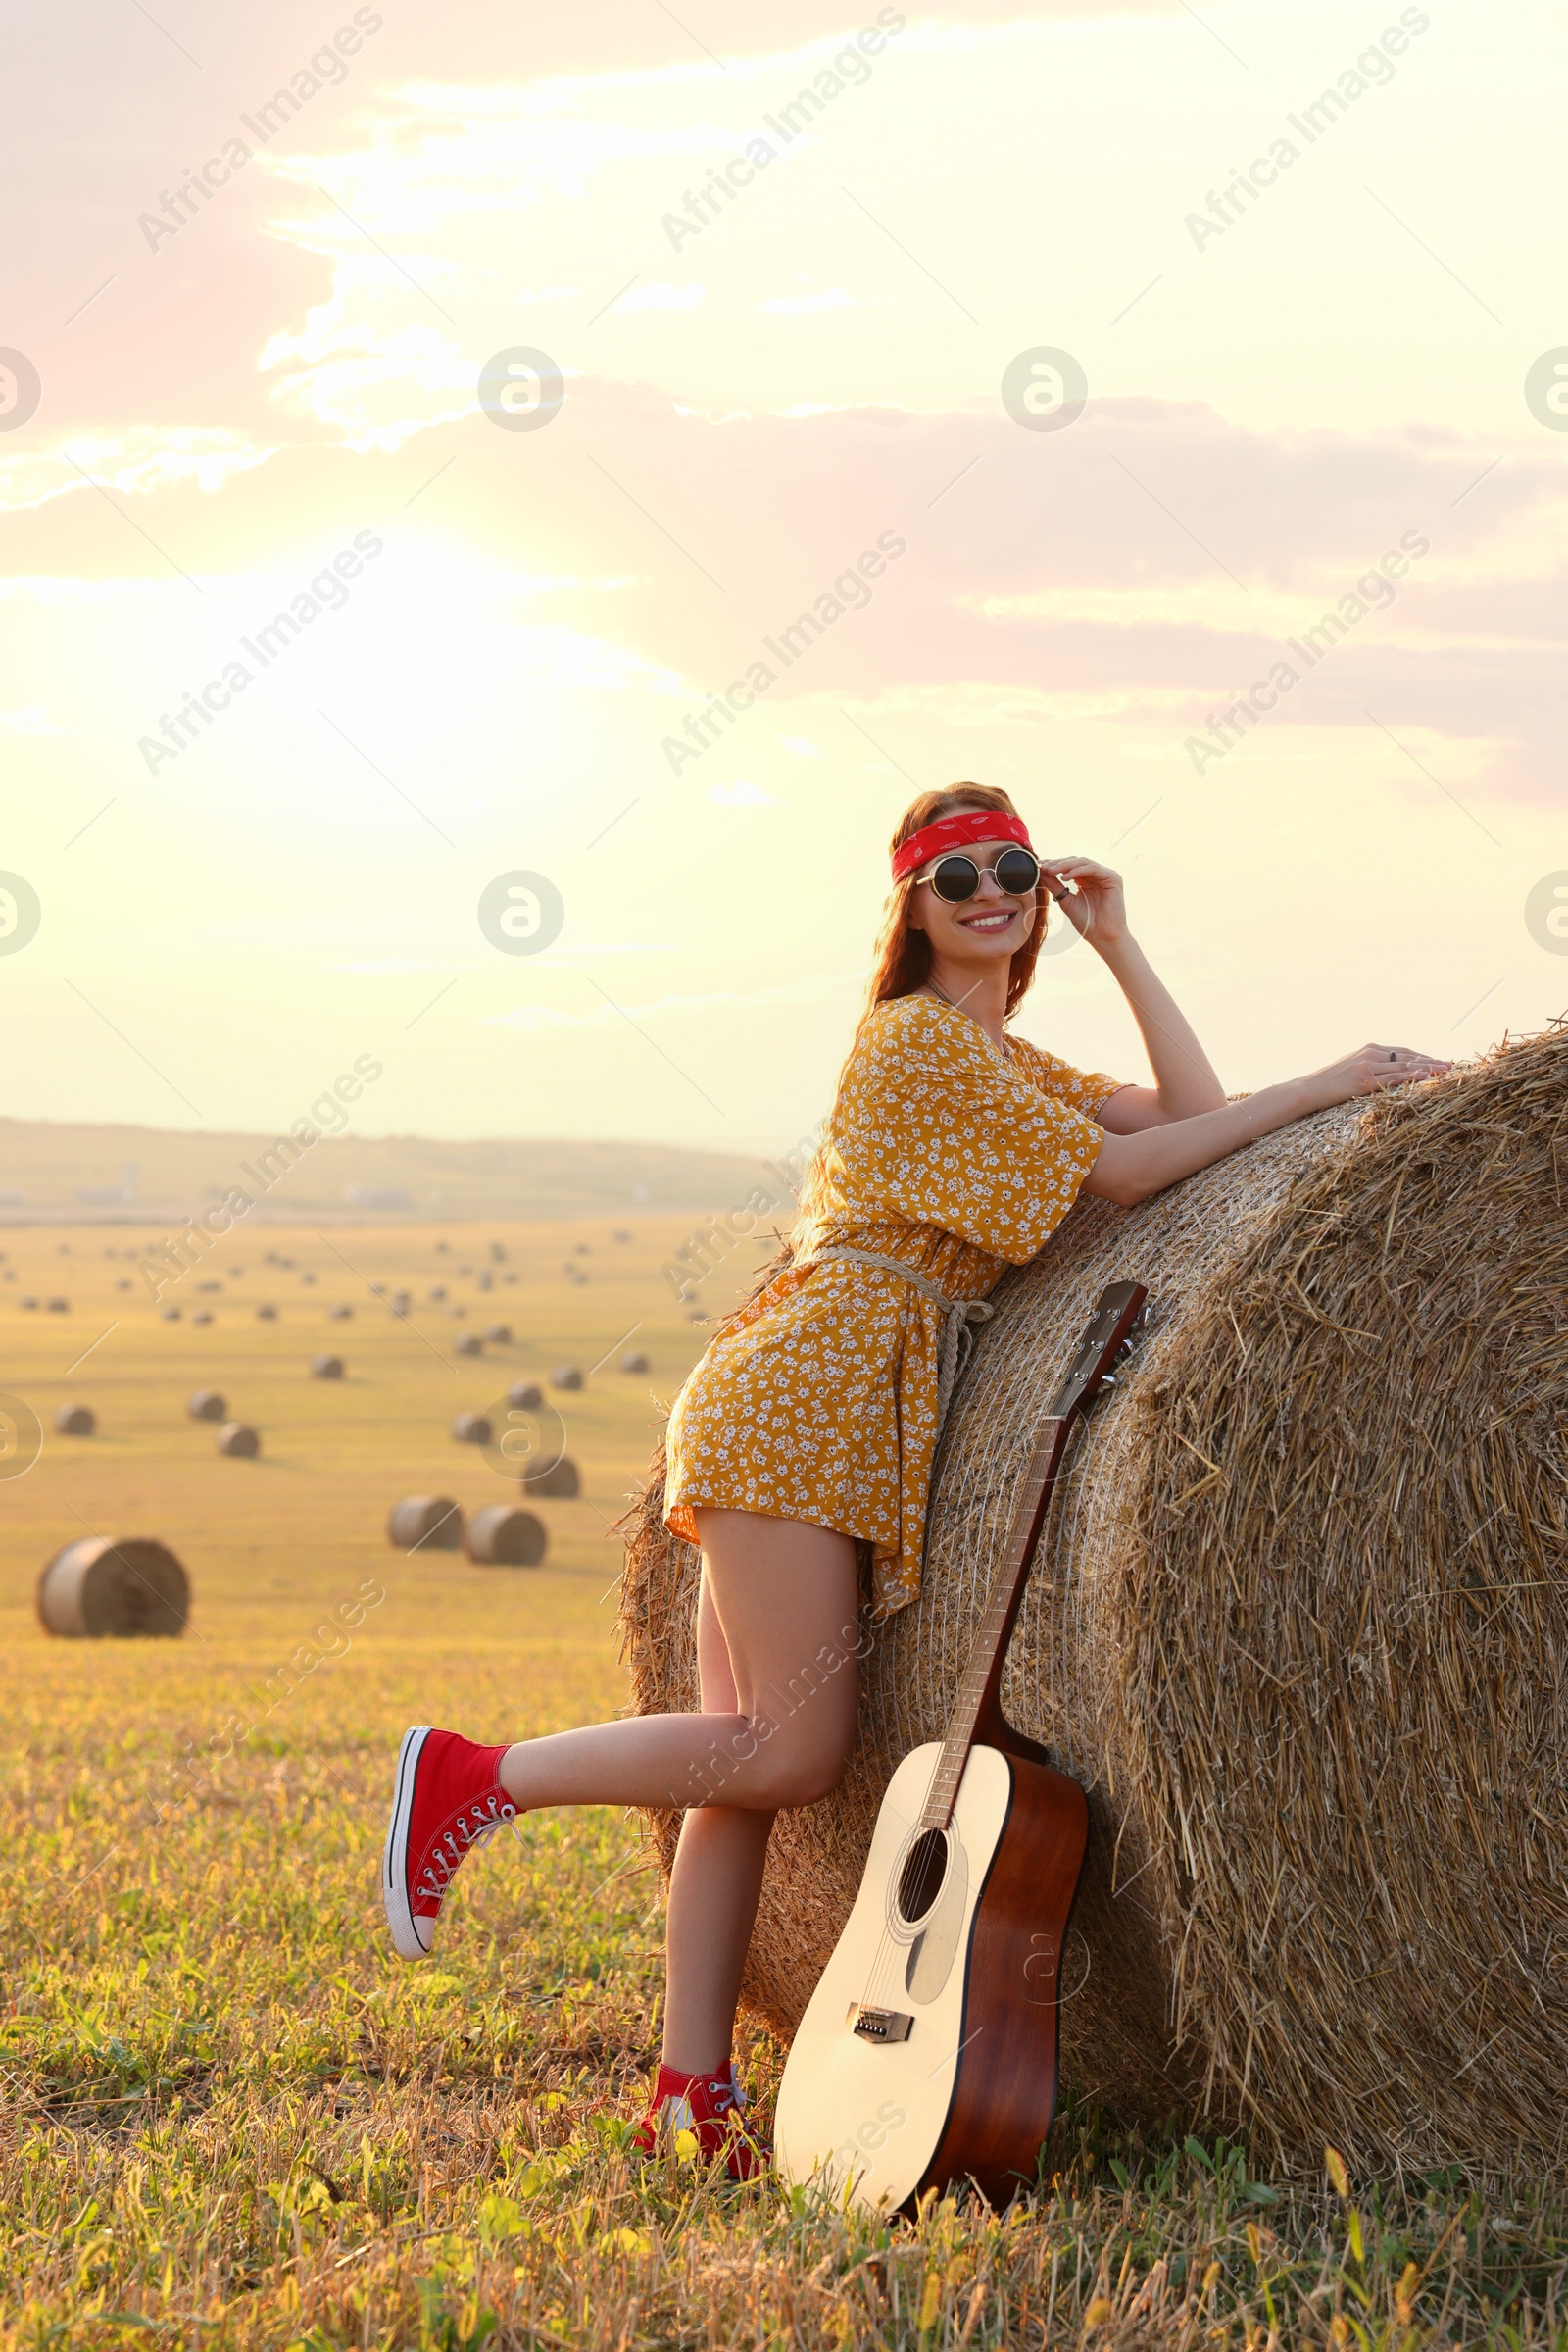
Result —
<path fill-rule="evenodd" d="M 1114 974 L 1152 1087 L 1006 1033 L 1046 891 Z M 663 2065 L 635 2145 L 689 2126 L 745 2178 L 731 2030 L 773 1813 L 837 1788 L 856 1738 L 858 1545 L 872 1618 L 919 1592 L 926 1484 L 969 1305 L 1079 1192 L 1131 1207 L 1253 1136 L 1446 1061 L 1361 1047 L 1239 1103 L 1126 929 L 1121 880 L 1037 858 L 1006 793 L 924 793 L 893 835 L 867 1011 L 806 1183 L 792 1263 L 722 1322 L 675 1402 L 665 1524 L 698 1543 L 701 1715 L 515 1745 L 404 1733 L 386 1849 L 397 1950 L 430 1950 L 475 1844 L 543 1804 L 684 1806 Z M 813 1672 L 804 1672 L 813 1668 Z"/>

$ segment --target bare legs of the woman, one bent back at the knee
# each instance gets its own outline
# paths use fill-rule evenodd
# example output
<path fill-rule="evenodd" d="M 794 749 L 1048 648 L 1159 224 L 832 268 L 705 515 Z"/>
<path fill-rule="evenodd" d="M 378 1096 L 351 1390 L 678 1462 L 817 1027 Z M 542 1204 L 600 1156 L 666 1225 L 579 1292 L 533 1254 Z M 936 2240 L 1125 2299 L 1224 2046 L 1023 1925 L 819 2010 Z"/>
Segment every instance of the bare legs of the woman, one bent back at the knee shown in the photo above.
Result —
<path fill-rule="evenodd" d="M 665 2063 L 722 2065 L 773 1811 L 837 1788 L 856 1740 L 858 1595 L 849 1536 L 698 1510 L 701 1715 L 520 1740 L 501 1785 L 524 1806 L 686 1809 L 670 1877 Z"/>

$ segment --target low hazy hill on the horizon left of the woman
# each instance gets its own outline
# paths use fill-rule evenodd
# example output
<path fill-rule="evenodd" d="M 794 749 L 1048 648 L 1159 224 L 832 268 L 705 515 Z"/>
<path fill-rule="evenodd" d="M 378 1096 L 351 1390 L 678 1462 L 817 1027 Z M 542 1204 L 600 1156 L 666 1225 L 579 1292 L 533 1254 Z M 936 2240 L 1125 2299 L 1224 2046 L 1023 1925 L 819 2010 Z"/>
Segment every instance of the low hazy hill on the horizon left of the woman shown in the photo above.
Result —
<path fill-rule="evenodd" d="M 277 1223 L 604 1216 L 729 1209 L 764 1181 L 759 1160 L 665 1143 L 339 1136 L 299 1155 L 275 1145 L 275 1134 L 0 1120 L 0 1223 L 162 1223 L 230 1188 L 249 1192 L 256 1214 Z"/>

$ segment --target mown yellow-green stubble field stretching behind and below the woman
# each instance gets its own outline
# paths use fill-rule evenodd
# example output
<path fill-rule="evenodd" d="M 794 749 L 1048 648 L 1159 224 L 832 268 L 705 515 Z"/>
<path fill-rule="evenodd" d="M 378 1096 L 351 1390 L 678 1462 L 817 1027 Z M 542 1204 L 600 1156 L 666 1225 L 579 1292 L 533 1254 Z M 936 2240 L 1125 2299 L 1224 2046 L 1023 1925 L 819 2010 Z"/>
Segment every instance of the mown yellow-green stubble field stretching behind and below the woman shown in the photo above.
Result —
<path fill-rule="evenodd" d="M 940 2199 L 884 2225 L 677 2157 L 635 2166 L 661 1898 L 614 1813 L 531 1816 L 465 1865 L 435 1962 L 393 1959 L 378 1849 L 402 1724 L 503 1738 L 625 1703 L 607 1519 L 646 1456 L 649 1381 L 611 1355 L 562 1399 L 585 1496 L 541 1505 L 538 1571 L 407 1559 L 386 1508 L 505 1491 L 444 1432 L 508 1378 L 590 1364 L 639 1322 L 668 1397 L 701 1343 L 658 1284 L 670 1230 L 618 1251 L 602 1228 L 496 1230 L 524 1275 L 503 1305 L 454 1279 L 482 1258 L 461 1228 L 440 1265 L 430 1235 L 364 1242 L 371 1279 L 447 1279 L 468 1324 L 512 1322 L 501 1362 L 458 1371 L 371 1315 L 310 1235 L 266 1242 L 317 1270 L 313 1296 L 299 1270 L 268 1270 L 284 1319 L 256 1324 L 247 1272 L 209 1329 L 125 1305 L 122 1261 L 99 1254 L 118 1235 L 73 1235 L 71 1258 L 54 1237 L 7 1237 L 26 1282 L 5 1294 L 61 1289 L 73 1310 L 0 1305 L 0 1385 L 45 1418 L 85 1395 L 101 1437 L 49 1439 L 0 1486 L 0 2345 L 1563 2340 L 1554 2190 L 1335 2187 L 1316 2164 L 1269 2180 L 1190 2119 L 1135 2138 L 1067 2098 L 1041 2192 L 1004 2216 Z M 559 1275 L 574 1237 L 592 1242 L 585 1287 Z M 334 1294 L 360 1308 L 348 1327 L 324 1319 Z M 120 1331 L 66 1376 L 115 1310 Z M 449 1355 L 458 1327 L 423 1329 Z M 303 1378 L 327 1343 L 350 1359 L 341 1390 Z M 259 1463 L 219 1461 L 212 1430 L 183 1421 L 197 1381 L 261 1423 Z M 186 1639 L 42 1637 L 35 1571 L 82 1522 L 181 1550 Z M 327 1611 L 367 1583 L 383 1597 L 348 1646 L 315 1644 L 303 1665 Z M 292 1693 L 275 1677 L 289 1658 Z M 764 2122 L 780 2058 L 743 2032 Z"/>

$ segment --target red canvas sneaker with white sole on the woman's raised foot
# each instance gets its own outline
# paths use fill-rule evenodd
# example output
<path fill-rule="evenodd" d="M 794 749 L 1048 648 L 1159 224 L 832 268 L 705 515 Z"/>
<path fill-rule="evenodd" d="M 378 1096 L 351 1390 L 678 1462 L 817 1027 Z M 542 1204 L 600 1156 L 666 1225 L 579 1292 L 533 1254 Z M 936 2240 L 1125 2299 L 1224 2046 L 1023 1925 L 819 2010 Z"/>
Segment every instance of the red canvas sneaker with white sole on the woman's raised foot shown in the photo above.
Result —
<path fill-rule="evenodd" d="M 505 1740 L 477 1748 L 456 1731 L 430 1731 L 428 1724 L 402 1736 L 381 1900 L 404 1959 L 428 1957 L 437 1912 L 463 1856 L 517 1818 L 496 1778 L 505 1748 Z"/>

